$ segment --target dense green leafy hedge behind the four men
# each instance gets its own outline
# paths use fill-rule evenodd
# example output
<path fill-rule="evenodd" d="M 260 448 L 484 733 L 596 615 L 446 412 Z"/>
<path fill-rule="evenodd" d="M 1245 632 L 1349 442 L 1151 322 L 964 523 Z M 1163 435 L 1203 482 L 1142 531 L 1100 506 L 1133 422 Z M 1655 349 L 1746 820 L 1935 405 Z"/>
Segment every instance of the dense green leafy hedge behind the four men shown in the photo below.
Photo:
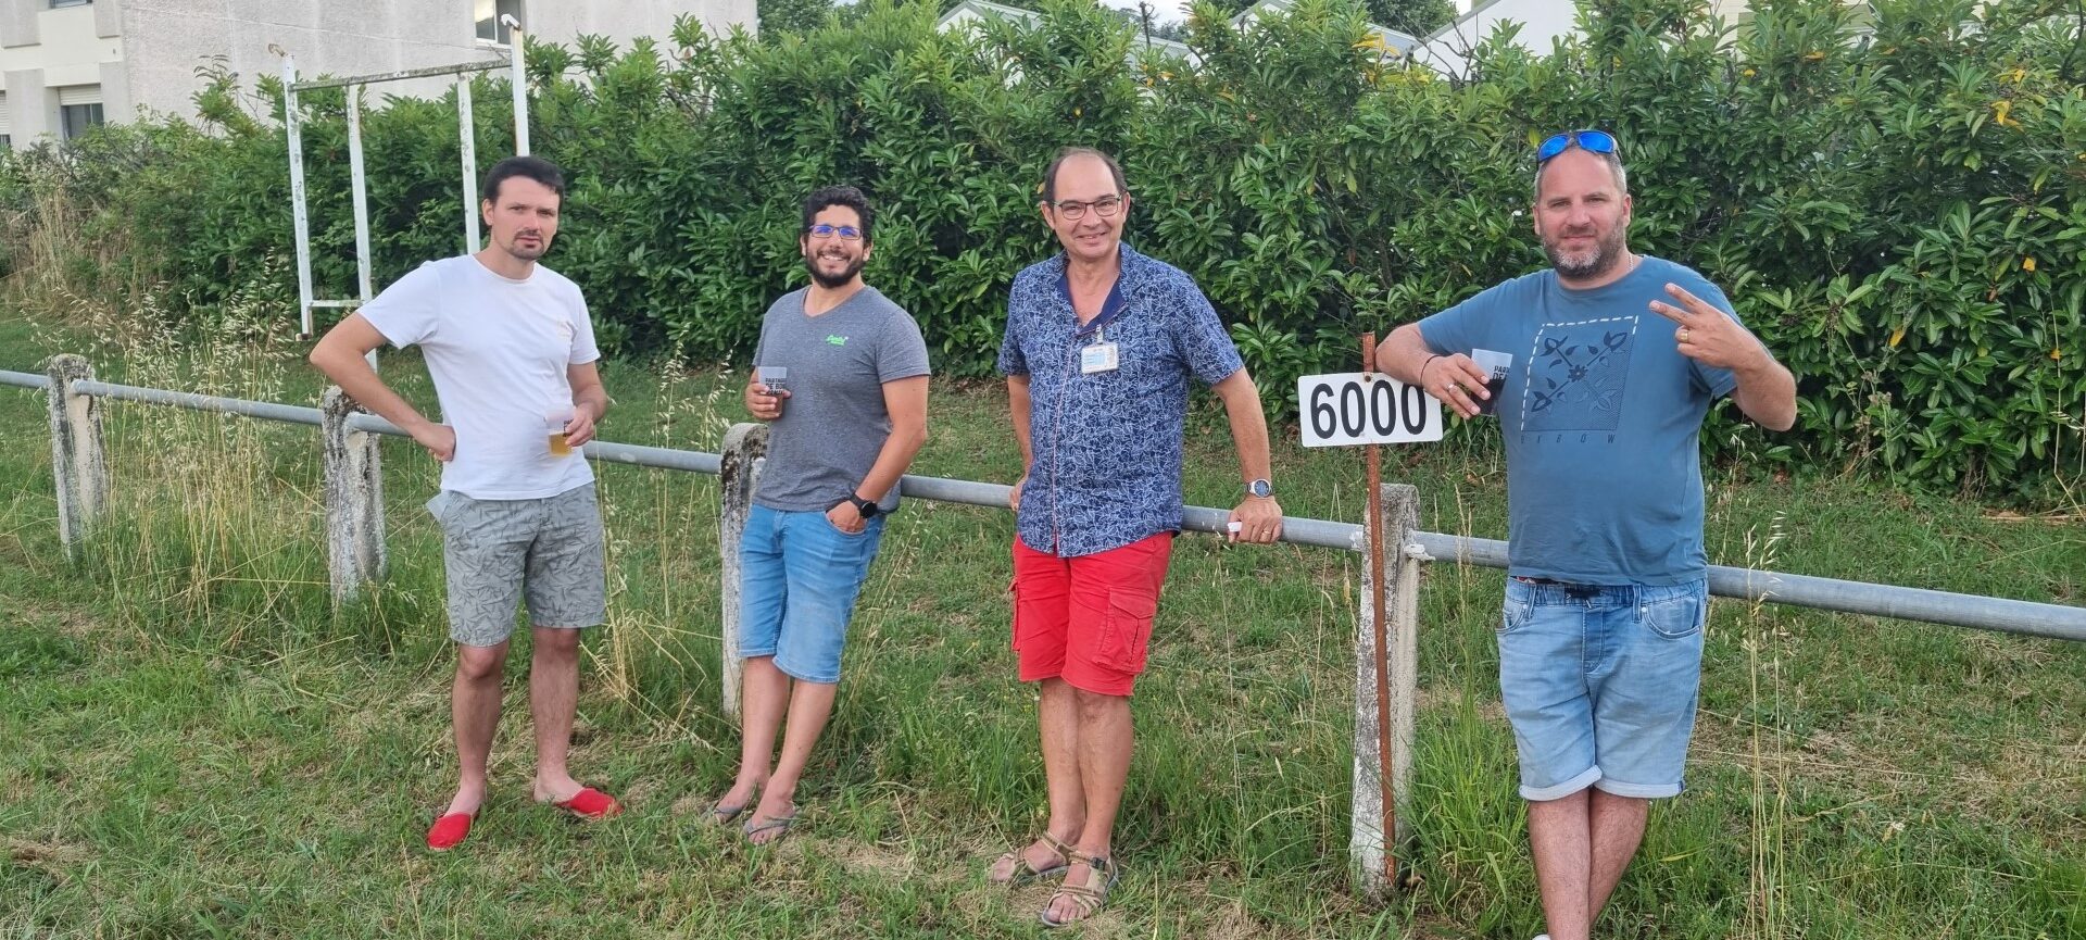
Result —
<path fill-rule="evenodd" d="M 884 0 L 868 0 L 882 4 Z M 1387 331 L 1542 267 L 1529 150 L 1562 127 L 1625 144 L 1633 246 L 1708 273 L 1800 375 L 1798 434 L 1713 419 L 1723 454 L 2011 488 L 2080 471 L 2086 400 L 2086 94 L 2069 0 L 1592 0 L 1583 38 L 1481 50 L 1469 81 L 1377 60 L 1352 6 L 1191 25 L 1206 63 L 1135 54 L 1120 19 L 937 33 L 937 6 L 872 6 L 809 35 L 532 48 L 532 140 L 574 177 L 553 263 L 624 352 L 743 356 L 801 283 L 797 200 L 853 181 L 882 215 L 872 281 L 937 365 L 989 375 L 1005 288 L 1053 250 L 1035 213 L 1062 144 L 1122 156 L 1131 240 L 1193 273 L 1277 402 Z M 263 81 L 273 100 L 275 88 Z M 340 98 L 307 96 L 319 281 L 353 283 Z M 507 148 L 478 88 L 480 154 Z M 211 133 L 98 144 L 79 188 L 194 304 L 290 252 L 280 104 L 204 96 Z M 117 135 L 111 135 L 117 138 Z M 451 102 L 365 121 L 378 281 L 459 250 Z M 17 160 L 0 198 L 63 156 Z M 31 167 L 35 165 L 35 167 Z M 8 196 L 13 194 L 13 196 Z"/>

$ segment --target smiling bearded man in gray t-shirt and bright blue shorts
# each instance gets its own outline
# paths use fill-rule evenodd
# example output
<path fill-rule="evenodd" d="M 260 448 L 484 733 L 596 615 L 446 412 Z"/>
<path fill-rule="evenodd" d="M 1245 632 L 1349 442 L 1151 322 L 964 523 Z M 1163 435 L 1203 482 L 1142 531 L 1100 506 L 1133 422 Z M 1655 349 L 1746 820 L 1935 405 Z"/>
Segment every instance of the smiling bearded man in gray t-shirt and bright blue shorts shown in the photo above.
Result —
<path fill-rule="evenodd" d="M 770 423 L 768 465 L 738 542 L 738 780 L 711 817 L 730 823 L 751 809 L 743 830 L 755 844 L 782 838 L 797 817 L 797 780 L 832 713 L 855 594 L 899 504 L 899 477 L 926 442 L 920 325 L 862 283 L 874 221 L 853 185 L 805 200 L 797 248 L 811 286 L 768 308 L 745 390 L 747 411 Z M 770 767 L 784 713 L 789 736 Z"/>

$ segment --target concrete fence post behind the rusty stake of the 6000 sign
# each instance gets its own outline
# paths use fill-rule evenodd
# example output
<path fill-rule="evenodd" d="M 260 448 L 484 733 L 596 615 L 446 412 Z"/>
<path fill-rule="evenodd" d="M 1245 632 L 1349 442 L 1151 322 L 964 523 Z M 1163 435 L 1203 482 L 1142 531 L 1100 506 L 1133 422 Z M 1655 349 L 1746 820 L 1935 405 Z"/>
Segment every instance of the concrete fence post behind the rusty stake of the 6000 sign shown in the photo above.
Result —
<path fill-rule="evenodd" d="M 1412 531 L 1421 521 L 1418 490 L 1410 484 L 1383 484 L 1377 502 L 1383 513 L 1383 536 L 1379 544 L 1366 548 L 1383 552 L 1383 607 L 1389 613 L 1385 636 L 1389 669 L 1383 682 L 1389 709 L 1383 713 L 1389 715 L 1389 729 L 1383 727 L 1377 709 L 1377 592 L 1371 565 L 1362 565 L 1362 617 L 1354 644 L 1354 819 L 1348 852 L 1356 892 L 1383 900 L 1398 890 L 1391 873 L 1396 863 L 1385 861 L 1387 852 L 1410 836 L 1412 700 L 1418 694 L 1418 586 L 1425 552 L 1412 546 Z M 1387 761 L 1385 746 L 1391 750 Z M 1383 807 L 1385 792 L 1391 794 L 1391 813 Z M 1393 830 L 1389 840 L 1385 840 L 1387 819 Z"/>

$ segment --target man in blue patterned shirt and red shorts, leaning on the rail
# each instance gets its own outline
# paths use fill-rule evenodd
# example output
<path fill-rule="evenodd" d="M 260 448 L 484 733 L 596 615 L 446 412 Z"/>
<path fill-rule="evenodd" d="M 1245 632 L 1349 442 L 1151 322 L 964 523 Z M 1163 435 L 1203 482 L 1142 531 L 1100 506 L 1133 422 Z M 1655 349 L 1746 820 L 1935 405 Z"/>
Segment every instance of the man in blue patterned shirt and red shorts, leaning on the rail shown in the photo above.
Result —
<path fill-rule="evenodd" d="M 1039 208 L 1064 254 L 1014 277 L 999 371 L 1024 467 L 1012 500 L 1014 650 L 1022 682 L 1041 684 L 1049 823 L 991 877 L 1062 873 L 1041 915 L 1056 927 L 1099 911 L 1116 882 L 1129 696 L 1181 531 L 1191 377 L 1224 400 L 1239 448 L 1245 496 L 1231 540 L 1275 542 L 1283 511 L 1260 392 L 1195 281 L 1122 244 L 1131 194 L 1116 160 L 1062 150 Z"/>

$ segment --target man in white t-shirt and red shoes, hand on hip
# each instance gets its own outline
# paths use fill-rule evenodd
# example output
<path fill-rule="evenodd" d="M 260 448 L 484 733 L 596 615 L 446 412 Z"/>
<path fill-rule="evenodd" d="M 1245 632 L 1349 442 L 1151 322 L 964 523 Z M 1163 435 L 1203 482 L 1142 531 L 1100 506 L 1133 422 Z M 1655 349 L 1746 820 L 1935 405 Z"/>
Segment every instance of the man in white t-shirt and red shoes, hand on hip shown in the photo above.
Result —
<path fill-rule="evenodd" d="M 549 160 L 511 156 L 486 173 L 480 192 L 492 244 L 421 265 L 311 350 L 311 365 L 342 392 L 442 461 L 442 492 L 428 511 L 442 525 L 457 642 L 451 717 L 461 780 L 428 830 L 436 852 L 463 842 L 484 805 L 507 638 L 524 594 L 534 627 L 536 802 L 584 819 L 622 813 L 613 796 L 565 769 L 580 629 L 607 613 L 601 509 L 580 446 L 609 406 L 580 288 L 536 265 L 557 236 L 565 177 Z M 378 379 L 365 356 L 386 342 L 419 346 L 442 423 Z"/>

